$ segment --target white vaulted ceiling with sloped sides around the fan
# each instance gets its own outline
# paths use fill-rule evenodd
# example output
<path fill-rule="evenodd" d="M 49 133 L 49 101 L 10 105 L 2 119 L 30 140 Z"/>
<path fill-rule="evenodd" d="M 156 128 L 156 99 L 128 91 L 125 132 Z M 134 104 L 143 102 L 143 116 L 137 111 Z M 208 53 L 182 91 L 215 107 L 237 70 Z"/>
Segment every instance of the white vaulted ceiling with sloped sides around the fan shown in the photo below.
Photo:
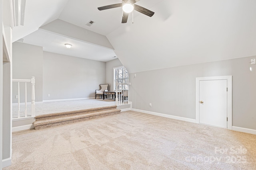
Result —
<path fill-rule="evenodd" d="M 121 0 L 26 1 L 24 26 L 13 41 L 44 51 L 110 61 L 117 56 L 129 72 L 256 55 L 254 0 L 140 0 L 155 12 L 134 11 L 121 23 L 122 8 L 97 7 Z M 88 21 L 95 23 L 88 27 Z M 66 49 L 64 43 L 72 43 Z"/>

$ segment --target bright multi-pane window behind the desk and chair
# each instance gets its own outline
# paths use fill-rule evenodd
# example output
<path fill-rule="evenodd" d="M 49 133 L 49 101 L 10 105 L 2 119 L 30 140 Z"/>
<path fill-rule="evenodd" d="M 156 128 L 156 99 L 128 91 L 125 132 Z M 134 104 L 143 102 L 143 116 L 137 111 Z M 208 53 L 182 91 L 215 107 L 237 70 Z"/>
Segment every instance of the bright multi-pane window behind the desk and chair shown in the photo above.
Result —
<path fill-rule="evenodd" d="M 129 83 L 129 73 L 124 66 L 114 68 L 114 90 L 116 90 L 116 81 L 118 83 Z M 128 85 L 119 84 L 118 90 L 128 90 Z"/>

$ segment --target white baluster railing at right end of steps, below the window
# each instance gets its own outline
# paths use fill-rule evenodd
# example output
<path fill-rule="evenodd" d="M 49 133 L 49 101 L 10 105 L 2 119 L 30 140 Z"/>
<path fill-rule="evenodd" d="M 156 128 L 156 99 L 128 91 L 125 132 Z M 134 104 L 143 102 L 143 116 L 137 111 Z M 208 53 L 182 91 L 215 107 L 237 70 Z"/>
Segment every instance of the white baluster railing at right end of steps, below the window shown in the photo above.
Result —
<path fill-rule="evenodd" d="M 128 94 L 130 85 L 130 83 L 116 82 L 116 106 L 128 104 Z"/>

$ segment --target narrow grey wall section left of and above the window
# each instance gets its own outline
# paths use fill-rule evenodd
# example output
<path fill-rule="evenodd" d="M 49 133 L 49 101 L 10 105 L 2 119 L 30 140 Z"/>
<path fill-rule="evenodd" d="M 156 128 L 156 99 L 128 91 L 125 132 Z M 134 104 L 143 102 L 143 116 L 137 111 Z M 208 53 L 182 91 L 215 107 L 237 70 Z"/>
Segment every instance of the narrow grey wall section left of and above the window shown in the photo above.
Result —
<path fill-rule="evenodd" d="M 106 62 L 106 83 L 108 85 L 108 90 L 114 90 L 114 69 L 115 67 L 122 66 L 122 63 L 119 59 L 114 59 Z"/>

